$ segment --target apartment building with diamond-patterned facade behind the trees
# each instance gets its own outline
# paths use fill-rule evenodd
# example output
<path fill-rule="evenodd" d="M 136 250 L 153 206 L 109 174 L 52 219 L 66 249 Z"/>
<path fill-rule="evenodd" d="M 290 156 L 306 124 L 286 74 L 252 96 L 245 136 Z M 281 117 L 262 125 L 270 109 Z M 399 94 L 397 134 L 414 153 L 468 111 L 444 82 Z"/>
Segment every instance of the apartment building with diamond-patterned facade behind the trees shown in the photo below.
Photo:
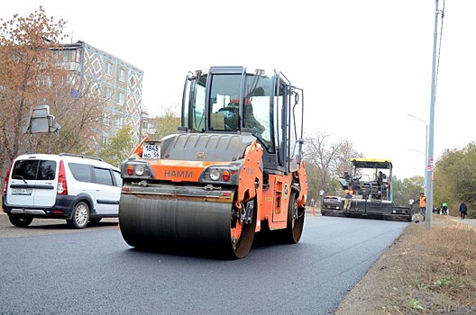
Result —
<path fill-rule="evenodd" d="M 78 91 L 88 85 L 88 91 L 95 91 L 105 106 L 104 128 L 97 132 L 96 143 L 105 143 L 126 124 L 133 128 L 137 142 L 141 133 L 143 71 L 85 41 L 63 44 L 62 48 L 63 67 L 78 73 Z"/>

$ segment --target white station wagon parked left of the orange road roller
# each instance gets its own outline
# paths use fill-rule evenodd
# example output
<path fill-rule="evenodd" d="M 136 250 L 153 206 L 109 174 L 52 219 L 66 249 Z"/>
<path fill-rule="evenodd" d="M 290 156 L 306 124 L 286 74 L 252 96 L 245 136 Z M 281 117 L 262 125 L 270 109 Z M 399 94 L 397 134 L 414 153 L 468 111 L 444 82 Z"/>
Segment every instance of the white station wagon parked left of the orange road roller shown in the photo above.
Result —
<path fill-rule="evenodd" d="M 26 154 L 7 172 L 3 209 L 16 227 L 46 218 L 82 229 L 87 222 L 118 217 L 121 186 L 119 168 L 100 158 Z"/>

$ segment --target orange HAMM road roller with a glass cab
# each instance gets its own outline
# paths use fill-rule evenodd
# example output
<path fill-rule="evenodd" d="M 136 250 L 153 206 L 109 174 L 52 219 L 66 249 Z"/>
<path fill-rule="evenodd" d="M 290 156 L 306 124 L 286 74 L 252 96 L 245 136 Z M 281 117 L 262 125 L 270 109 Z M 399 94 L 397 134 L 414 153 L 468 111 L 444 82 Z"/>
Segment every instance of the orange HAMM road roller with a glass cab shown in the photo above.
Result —
<path fill-rule="evenodd" d="M 307 199 L 303 90 L 276 69 L 186 76 L 177 132 L 121 166 L 119 224 L 136 248 L 243 258 L 257 233 L 301 238 Z"/>

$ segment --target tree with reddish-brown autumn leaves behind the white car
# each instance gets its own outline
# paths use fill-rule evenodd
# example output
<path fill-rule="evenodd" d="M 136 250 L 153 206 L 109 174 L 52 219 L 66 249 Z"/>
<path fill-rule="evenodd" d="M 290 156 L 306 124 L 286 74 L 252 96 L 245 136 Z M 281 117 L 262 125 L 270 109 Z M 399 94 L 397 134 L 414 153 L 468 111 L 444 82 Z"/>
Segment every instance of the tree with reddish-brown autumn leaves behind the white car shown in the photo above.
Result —
<path fill-rule="evenodd" d="M 59 66 L 66 21 L 40 7 L 0 23 L 0 175 L 25 152 L 83 152 L 101 128 L 101 103 L 94 85 Z M 59 134 L 23 134 L 32 106 L 41 104 L 50 105 Z"/>

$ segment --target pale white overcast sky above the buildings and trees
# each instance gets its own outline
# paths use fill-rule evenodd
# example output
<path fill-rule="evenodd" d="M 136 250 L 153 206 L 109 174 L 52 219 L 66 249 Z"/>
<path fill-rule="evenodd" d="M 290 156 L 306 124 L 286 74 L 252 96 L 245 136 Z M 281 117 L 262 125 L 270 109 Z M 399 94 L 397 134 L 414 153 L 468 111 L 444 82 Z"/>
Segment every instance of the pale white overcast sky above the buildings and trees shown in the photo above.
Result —
<path fill-rule="evenodd" d="M 476 138 L 476 1 L 439 2 L 435 161 Z M 435 0 L 22 0 L 3 3 L 0 18 L 40 5 L 68 21 L 68 41 L 142 69 L 151 115 L 178 112 L 189 70 L 276 68 L 304 89 L 307 135 L 325 130 L 329 143 L 390 158 L 398 178 L 424 174 Z"/>

